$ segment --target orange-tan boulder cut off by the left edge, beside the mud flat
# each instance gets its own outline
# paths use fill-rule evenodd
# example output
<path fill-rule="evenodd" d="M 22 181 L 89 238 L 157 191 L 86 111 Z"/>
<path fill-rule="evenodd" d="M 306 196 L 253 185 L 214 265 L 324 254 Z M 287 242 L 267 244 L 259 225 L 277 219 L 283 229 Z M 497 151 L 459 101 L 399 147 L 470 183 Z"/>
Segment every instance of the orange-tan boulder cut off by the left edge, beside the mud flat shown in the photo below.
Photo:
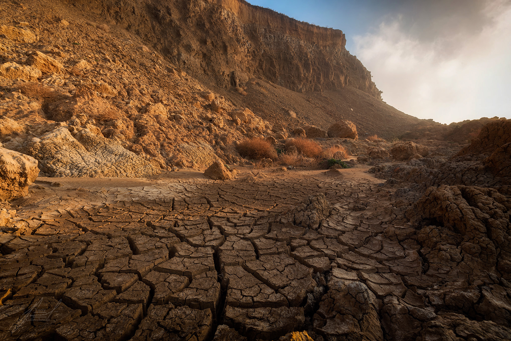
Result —
<path fill-rule="evenodd" d="M 0 199 L 9 200 L 28 194 L 28 186 L 39 174 L 35 158 L 0 147 Z"/>

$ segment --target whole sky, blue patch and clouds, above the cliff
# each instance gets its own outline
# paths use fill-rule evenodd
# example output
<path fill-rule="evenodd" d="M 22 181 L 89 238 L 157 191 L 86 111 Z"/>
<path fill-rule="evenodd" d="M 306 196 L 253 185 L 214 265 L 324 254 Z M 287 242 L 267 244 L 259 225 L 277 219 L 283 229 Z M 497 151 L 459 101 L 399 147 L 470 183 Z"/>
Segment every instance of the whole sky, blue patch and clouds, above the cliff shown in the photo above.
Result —
<path fill-rule="evenodd" d="M 342 30 L 385 102 L 440 123 L 511 118 L 511 0 L 248 0 Z"/>

